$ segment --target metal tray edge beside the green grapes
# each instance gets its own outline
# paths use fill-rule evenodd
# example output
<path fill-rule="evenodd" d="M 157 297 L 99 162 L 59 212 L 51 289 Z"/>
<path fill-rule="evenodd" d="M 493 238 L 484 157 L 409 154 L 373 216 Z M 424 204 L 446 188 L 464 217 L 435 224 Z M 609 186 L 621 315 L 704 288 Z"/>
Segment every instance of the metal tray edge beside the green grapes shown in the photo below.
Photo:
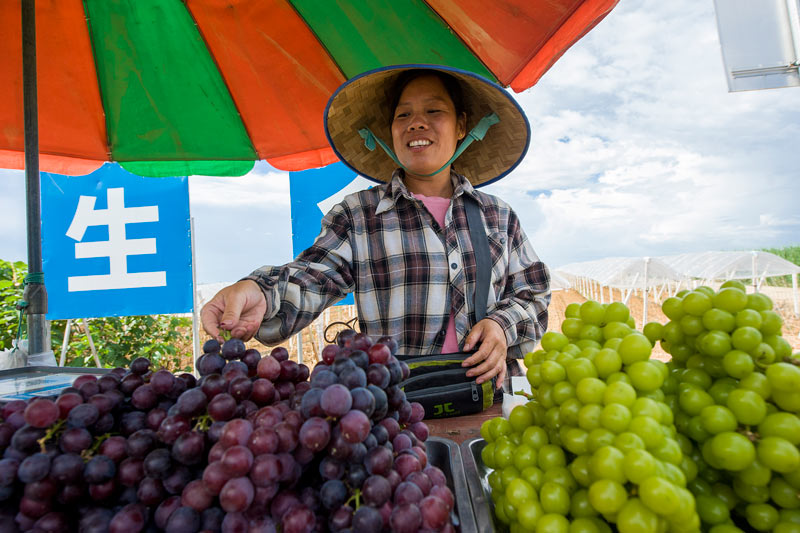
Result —
<path fill-rule="evenodd" d="M 494 502 L 489 488 L 492 469 L 483 464 L 481 450 L 486 446 L 482 438 L 465 440 L 461 444 L 461 459 L 467 478 L 472 509 L 475 513 L 475 531 L 480 533 L 505 533 L 508 527 L 494 516 Z"/>

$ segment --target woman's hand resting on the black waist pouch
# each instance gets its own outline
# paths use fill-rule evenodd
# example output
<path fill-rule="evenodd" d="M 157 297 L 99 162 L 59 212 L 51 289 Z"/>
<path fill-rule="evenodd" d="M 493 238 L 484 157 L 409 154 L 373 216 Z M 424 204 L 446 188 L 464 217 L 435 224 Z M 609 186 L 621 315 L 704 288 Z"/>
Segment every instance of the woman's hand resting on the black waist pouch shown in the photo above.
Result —
<path fill-rule="evenodd" d="M 477 383 L 489 381 L 497 376 L 497 388 L 503 386 L 506 378 L 506 335 L 500 324 L 484 318 L 472 328 L 464 342 L 464 351 L 480 343 L 478 351 L 464 360 L 461 366 L 475 366 L 467 371 L 467 377 L 477 378 Z M 480 363 L 480 364 L 478 364 Z"/>

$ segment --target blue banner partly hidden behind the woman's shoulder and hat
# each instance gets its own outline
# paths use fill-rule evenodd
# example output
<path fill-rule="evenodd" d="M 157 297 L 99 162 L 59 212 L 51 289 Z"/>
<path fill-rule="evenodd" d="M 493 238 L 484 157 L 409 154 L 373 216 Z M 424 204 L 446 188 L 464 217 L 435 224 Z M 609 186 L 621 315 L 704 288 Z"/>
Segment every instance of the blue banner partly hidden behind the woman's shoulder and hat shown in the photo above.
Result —
<path fill-rule="evenodd" d="M 362 178 L 344 163 L 289 173 L 289 203 L 292 212 L 292 254 L 314 244 L 322 217 L 348 194 L 368 189 L 375 182 Z M 338 303 L 352 305 L 353 295 Z"/>

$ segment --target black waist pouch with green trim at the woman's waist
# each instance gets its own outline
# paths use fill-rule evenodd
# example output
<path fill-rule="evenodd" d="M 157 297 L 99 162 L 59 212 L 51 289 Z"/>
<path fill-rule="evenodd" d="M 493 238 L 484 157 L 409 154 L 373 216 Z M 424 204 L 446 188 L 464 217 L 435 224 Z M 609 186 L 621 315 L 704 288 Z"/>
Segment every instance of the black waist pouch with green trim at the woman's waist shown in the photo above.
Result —
<path fill-rule="evenodd" d="M 400 383 L 409 402 L 425 408 L 425 418 L 448 418 L 470 415 L 488 409 L 494 403 L 495 380 L 478 385 L 467 377 L 469 368 L 461 363 L 470 353 L 449 353 L 428 357 L 400 357 L 411 370 Z"/>

